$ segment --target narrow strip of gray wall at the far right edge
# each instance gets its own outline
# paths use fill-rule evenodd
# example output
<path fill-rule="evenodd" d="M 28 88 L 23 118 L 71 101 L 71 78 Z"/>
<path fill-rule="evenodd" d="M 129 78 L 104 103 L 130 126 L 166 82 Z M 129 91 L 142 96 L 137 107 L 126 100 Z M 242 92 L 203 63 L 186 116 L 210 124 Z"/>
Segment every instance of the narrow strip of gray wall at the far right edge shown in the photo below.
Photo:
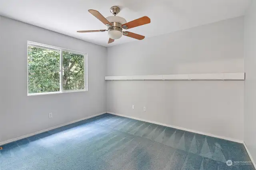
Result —
<path fill-rule="evenodd" d="M 244 142 L 256 160 L 256 0 L 252 0 L 244 25 Z"/>

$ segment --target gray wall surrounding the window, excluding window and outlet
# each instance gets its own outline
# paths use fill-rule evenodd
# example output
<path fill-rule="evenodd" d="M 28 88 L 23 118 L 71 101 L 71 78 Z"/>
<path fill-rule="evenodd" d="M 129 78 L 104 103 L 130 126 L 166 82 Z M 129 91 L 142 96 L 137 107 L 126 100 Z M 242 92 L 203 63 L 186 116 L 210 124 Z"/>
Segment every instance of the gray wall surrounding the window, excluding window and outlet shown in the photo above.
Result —
<path fill-rule="evenodd" d="M 5 17 L 0 29 L 0 142 L 106 111 L 105 47 Z M 27 96 L 27 41 L 88 53 L 88 91 Z"/>

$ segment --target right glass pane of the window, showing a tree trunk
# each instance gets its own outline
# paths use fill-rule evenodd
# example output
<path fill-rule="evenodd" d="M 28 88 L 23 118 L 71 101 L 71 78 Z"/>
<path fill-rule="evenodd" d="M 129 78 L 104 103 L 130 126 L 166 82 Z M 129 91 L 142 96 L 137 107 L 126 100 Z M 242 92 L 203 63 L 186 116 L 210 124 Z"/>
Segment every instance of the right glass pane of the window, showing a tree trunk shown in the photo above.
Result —
<path fill-rule="evenodd" d="M 84 89 L 84 55 L 62 51 L 63 90 Z"/>

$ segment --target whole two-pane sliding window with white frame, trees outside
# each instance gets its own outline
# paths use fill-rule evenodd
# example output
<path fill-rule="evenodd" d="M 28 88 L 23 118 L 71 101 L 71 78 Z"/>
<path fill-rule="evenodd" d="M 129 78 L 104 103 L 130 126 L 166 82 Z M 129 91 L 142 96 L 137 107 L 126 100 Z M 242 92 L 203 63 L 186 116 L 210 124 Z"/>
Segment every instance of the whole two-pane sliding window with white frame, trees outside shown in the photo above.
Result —
<path fill-rule="evenodd" d="M 28 95 L 87 91 L 87 55 L 28 42 Z"/>

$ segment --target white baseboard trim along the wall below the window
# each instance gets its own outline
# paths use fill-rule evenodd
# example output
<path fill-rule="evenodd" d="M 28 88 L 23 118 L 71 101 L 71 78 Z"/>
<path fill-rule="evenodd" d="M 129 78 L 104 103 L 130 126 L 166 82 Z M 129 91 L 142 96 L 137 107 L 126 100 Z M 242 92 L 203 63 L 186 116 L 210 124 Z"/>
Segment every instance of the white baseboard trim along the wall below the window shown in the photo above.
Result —
<path fill-rule="evenodd" d="M 20 136 L 20 137 L 17 137 L 17 138 L 13 138 L 13 139 L 10 139 L 10 140 L 6 140 L 6 141 L 3 141 L 3 142 L 0 142 L 0 146 L 1 145 L 4 145 L 4 144 L 7 144 L 7 143 L 10 143 L 10 142 L 14 142 L 14 141 L 17 141 L 17 140 L 20 140 L 20 139 L 23 139 L 23 138 L 28 138 L 30 136 L 34 136 L 36 134 L 39 134 L 39 133 L 42 133 L 42 132 L 47 132 L 49 130 L 52 130 L 52 129 L 55 129 L 55 128 L 59 128 L 59 127 L 63 127 L 63 126 L 66 126 L 66 125 L 70 125 L 72 123 L 76 123 L 76 122 L 79 122 L 79 121 L 83 121 L 85 119 L 90 119 L 92 117 L 96 117 L 96 116 L 99 116 L 99 115 L 102 115 L 106 112 L 102 112 L 102 113 L 99 113 L 99 114 L 96 114 L 96 115 L 92 115 L 92 116 L 88 116 L 88 117 L 84 117 L 82 119 L 78 119 L 78 120 L 75 120 L 75 121 L 71 121 L 71 122 L 68 122 L 68 123 L 64 123 L 62 125 L 58 125 L 58 126 L 55 126 L 55 127 L 50 127 L 50 128 L 47 128 L 47 129 L 44 129 L 44 130 L 40 130 L 40 131 L 37 131 L 37 132 L 34 132 L 34 133 L 30 133 L 30 134 L 26 134 L 26 135 L 23 135 L 23 136 Z"/>

